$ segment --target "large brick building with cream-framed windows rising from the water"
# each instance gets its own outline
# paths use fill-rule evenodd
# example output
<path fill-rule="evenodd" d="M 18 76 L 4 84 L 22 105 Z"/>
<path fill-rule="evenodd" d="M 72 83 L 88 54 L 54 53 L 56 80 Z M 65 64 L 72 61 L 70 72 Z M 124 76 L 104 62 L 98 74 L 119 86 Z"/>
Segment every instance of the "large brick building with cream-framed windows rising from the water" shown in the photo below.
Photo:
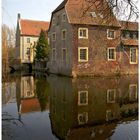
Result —
<path fill-rule="evenodd" d="M 138 73 L 138 23 L 123 26 L 107 2 L 98 10 L 97 2 L 83 13 L 87 4 L 64 0 L 52 12 L 50 71 L 73 77 Z M 126 32 L 132 39 L 124 38 Z"/>

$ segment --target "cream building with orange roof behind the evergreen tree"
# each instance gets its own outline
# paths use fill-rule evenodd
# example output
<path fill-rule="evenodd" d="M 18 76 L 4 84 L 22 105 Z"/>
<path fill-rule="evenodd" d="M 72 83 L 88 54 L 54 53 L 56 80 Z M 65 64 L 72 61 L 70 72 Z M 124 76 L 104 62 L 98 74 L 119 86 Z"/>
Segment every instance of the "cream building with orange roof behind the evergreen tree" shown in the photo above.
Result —
<path fill-rule="evenodd" d="M 16 58 L 20 63 L 32 63 L 34 46 L 38 41 L 41 29 L 48 31 L 49 22 L 21 19 L 18 14 L 16 30 Z"/>

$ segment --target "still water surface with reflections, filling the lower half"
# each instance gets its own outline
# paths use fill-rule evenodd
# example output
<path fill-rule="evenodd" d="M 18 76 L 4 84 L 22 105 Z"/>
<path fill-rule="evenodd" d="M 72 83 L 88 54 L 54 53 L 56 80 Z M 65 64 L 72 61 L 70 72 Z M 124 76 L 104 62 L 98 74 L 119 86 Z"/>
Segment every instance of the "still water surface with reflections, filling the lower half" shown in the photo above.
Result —
<path fill-rule="evenodd" d="M 14 74 L 2 83 L 3 140 L 138 140 L 138 79 Z"/>

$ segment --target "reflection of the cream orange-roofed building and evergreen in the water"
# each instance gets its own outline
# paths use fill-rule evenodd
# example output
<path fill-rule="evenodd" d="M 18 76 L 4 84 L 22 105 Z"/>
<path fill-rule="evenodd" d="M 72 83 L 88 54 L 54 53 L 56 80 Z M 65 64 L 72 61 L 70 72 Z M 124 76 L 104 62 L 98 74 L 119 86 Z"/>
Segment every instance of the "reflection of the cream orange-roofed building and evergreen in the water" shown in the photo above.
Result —
<path fill-rule="evenodd" d="M 33 76 L 22 76 L 19 79 L 16 94 L 19 117 L 24 113 L 48 110 L 46 84 L 44 80 L 35 80 Z"/>

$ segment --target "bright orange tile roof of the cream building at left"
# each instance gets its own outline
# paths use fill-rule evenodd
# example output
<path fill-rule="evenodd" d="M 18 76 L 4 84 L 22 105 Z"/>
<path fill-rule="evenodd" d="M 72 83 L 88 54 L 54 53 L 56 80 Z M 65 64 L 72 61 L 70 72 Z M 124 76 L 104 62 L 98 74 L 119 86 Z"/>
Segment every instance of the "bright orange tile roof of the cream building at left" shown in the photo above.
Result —
<path fill-rule="evenodd" d="M 41 29 L 48 30 L 49 22 L 20 19 L 21 35 L 39 36 Z"/>

